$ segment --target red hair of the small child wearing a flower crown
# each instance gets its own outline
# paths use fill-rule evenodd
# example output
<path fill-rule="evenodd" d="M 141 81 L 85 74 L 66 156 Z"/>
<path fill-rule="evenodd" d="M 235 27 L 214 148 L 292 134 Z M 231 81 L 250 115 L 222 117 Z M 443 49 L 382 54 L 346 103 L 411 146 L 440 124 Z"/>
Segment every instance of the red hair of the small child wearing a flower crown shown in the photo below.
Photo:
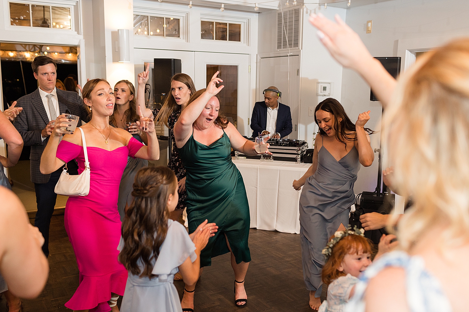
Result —
<path fill-rule="evenodd" d="M 332 239 L 333 237 L 331 237 Z M 329 239 L 329 240 L 331 240 Z M 358 254 L 362 248 L 364 254 L 372 252 L 371 245 L 368 239 L 360 235 L 348 235 L 340 239 L 332 248 L 332 254 L 325 263 L 322 269 L 322 281 L 325 284 L 330 284 L 333 280 L 340 276 L 345 276 L 344 272 L 339 271 L 337 268 L 340 266 L 346 254 Z"/>

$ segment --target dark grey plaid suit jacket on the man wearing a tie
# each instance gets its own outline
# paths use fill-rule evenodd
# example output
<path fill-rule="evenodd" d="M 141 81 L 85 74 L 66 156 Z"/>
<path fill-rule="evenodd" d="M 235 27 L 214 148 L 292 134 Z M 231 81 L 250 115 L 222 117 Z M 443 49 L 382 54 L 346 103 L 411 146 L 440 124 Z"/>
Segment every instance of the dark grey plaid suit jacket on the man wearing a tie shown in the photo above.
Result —
<path fill-rule="evenodd" d="M 65 110 L 68 109 L 71 115 L 80 117 L 79 125 L 82 120 L 84 122 L 89 121 L 83 100 L 76 92 L 57 89 L 57 99 L 60 114 L 64 114 Z M 44 141 L 41 140 L 41 131 L 49 123 L 49 118 L 39 94 L 39 89 L 22 96 L 17 101 L 16 107 L 22 107 L 23 111 L 15 118 L 15 128 L 21 134 L 24 145 L 31 146 L 31 181 L 33 183 L 47 183 L 51 175 L 41 174 L 39 165 L 45 145 L 49 142 L 49 137 L 45 138 Z"/>

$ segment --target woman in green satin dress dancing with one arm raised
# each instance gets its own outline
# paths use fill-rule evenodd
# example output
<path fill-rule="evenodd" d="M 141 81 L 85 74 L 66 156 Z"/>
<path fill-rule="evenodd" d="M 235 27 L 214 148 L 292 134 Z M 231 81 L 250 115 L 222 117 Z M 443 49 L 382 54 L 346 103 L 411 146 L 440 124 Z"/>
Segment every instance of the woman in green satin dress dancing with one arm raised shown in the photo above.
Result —
<path fill-rule="evenodd" d="M 189 233 L 205 219 L 218 225 L 218 232 L 200 254 L 200 265 L 209 266 L 212 257 L 231 252 L 235 304 L 241 307 L 248 300 L 243 282 L 251 261 L 250 216 L 244 182 L 230 153 L 231 148 L 246 155 L 257 152 L 254 142 L 243 138 L 232 123 L 218 116 L 220 103 L 216 95 L 223 86 L 217 88 L 216 84 L 223 80 L 217 75 L 218 72 L 206 89 L 192 95 L 174 125 L 174 139 L 187 171 Z M 193 311 L 194 289 L 195 284 L 186 284 L 182 311 Z"/>

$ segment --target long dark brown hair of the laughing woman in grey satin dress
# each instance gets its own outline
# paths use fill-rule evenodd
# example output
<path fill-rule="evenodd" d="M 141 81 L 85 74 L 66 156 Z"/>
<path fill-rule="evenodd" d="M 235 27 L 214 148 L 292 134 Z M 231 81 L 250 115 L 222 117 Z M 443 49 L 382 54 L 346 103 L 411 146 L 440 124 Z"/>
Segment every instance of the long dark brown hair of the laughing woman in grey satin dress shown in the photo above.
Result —
<path fill-rule="evenodd" d="M 347 148 L 347 142 L 345 142 L 345 140 L 347 141 L 357 140 L 354 134 L 352 133 L 347 134 L 346 132 L 346 130 L 356 132 L 355 123 L 352 123 L 350 118 L 348 118 L 347 113 L 345 112 L 345 109 L 339 103 L 339 101 L 330 97 L 330 98 L 325 99 L 323 102 L 320 102 L 318 106 L 316 106 L 316 109 L 314 109 L 314 122 L 316 124 L 318 124 L 318 119 L 316 118 L 316 112 L 319 109 L 329 112 L 334 116 L 335 138 L 337 138 L 339 142 L 342 142 L 343 144 L 345 144 L 346 148 Z M 339 118 L 342 119 L 342 121 L 339 121 Z M 368 132 L 368 134 L 376 133 L 375 131 L 372 131 L 369 128 L 365 128 L 365 131 Z M 319 127 L 319 133 L 322 136 L 326 135 L 326 133 L 324 132 L 324 130 L 321 129 L 321 127 Z"/>

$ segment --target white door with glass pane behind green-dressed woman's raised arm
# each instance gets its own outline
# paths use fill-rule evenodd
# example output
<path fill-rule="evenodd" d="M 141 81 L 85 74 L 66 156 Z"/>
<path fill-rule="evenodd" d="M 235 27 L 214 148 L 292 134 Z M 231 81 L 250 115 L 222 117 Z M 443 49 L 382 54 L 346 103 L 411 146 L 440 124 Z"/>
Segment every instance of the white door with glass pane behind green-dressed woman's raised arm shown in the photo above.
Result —
<path fill-rule="evenodd" d="M 249 61 L 249 54 L 195 52 L 194 57 L 197 90 L 207 87 L 207 78 L 219 70 L 225 86 L 219 93 L 220 111 L 232 117 L 238 131 L 246 136 L 250 135 Z"/>

